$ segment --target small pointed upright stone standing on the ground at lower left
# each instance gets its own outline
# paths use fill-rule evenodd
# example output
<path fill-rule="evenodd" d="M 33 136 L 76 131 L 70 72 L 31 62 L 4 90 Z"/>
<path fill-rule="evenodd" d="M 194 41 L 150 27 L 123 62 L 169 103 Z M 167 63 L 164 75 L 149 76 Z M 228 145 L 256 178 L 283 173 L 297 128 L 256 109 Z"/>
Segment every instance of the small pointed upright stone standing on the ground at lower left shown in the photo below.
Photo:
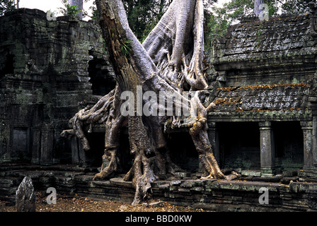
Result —
<path fill-rule="evenodd" d="M 24 177 L 16 190 L 16 210 L 18 212 L 35 212 L 35 191 L 30 177 Z"/>

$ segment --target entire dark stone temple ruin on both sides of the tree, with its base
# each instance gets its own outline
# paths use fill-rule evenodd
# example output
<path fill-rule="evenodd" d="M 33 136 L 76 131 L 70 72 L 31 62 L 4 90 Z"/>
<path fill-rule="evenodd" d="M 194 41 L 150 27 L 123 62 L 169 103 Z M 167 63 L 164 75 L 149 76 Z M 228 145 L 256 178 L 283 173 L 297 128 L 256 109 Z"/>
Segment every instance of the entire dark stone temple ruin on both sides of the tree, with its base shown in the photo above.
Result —
<path fill-rule="evenodd" d="M 209 140 L 235 181 L 200 180 L 198 155 L 182 127 L 171 131 L 173 160 L 185 169 L 154 182 L 153 196 L 211 210 L 316 210 L 317 12 L 260 22 L 246 18 L 212 43 L 205 65 Z M 92 21 L 21 8 L 0 17 L 0 199 L 13 201 L 25 175 L 35 189 L 132 201 L 130 182 L 92 182 L 101 165 L 103 125 L 62 138 L 68 121 L 113 89 L 113 69 Z M 86 129 L 88 130 L 88 128 Z M 188 136 L 184 137 L 184 136 Z M 180 140 L 181 146 L 173 141 Z M 122 148 L 129 144 L 122 140 Z M 125 152 L 122 152 L 125 153 Z M 122 156 L 129 165 L 129 152 Z M 129 169 L 129 167 L 127 167 Z M 270 203 L 258 202 L 267 187 Z"/>

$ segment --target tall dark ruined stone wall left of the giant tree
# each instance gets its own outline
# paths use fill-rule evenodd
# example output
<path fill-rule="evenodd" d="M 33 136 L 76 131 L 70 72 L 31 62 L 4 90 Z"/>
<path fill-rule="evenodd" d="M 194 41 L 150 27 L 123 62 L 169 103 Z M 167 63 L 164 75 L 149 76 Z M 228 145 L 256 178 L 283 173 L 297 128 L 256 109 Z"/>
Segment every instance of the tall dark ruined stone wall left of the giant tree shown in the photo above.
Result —
<path fill-rule="evenodd" d="M 59 134 L 112 75 L 96 23 L 27 8 L 0 17 L 0 162 L 71 159 Z"/>

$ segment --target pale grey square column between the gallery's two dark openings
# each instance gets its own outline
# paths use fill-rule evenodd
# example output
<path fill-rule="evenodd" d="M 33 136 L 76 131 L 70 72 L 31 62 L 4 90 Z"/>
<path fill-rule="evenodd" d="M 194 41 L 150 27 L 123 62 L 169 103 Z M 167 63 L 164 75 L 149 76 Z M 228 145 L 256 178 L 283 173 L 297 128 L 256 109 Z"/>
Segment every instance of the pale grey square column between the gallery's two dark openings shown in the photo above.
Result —
<path fill-rule="evenodd" d="M 270 121 L 260 122 L 260 162 L 261 176 L 275 174 L 275 143 Z"/>

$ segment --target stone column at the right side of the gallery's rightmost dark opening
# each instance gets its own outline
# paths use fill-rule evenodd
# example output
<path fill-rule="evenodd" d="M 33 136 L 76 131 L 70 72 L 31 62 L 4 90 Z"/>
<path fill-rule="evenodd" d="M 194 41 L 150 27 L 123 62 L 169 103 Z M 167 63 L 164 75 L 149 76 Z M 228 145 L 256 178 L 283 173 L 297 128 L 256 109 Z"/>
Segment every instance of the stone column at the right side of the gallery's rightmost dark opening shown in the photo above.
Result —
<path fill-rule="evenodd" d="M 304 135 L 304 169 L 313 167 L 313 121 L 301 121 Z M 315 129 L 316 133 L 316 129 Z"/>

